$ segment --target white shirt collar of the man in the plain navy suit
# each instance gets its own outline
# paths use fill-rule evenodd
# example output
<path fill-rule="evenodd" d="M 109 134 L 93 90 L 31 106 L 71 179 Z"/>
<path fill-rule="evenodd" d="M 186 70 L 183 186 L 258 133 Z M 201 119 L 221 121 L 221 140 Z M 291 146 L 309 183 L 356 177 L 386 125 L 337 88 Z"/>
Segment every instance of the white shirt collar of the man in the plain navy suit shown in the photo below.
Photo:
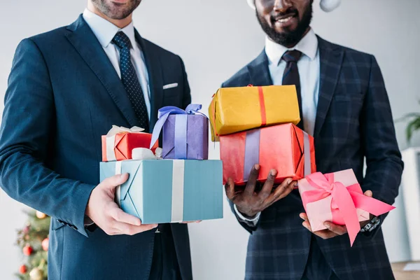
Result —
<path fill-rule="evenodd" d="M 99 43 L 101 43 L 103 48 L 108 47 L 111 43 L 114 36 L 116 36 L 118 31 L 123 31 L 125 35 L 130 38 L 132 45 L 136 45 L 136 36 L 134 35 L 134 25 L 133 22 L 130 22 L 130 25 L 127 25 L 123 29 L 113 25 L 112 22 L 101 18 L 99 15 L 92 13 L 90 10 L 85 8 L 83 12 L 83 19 L 87 22 L 90 29 L 92 29 L 94 35 L 98 38 Z"/>

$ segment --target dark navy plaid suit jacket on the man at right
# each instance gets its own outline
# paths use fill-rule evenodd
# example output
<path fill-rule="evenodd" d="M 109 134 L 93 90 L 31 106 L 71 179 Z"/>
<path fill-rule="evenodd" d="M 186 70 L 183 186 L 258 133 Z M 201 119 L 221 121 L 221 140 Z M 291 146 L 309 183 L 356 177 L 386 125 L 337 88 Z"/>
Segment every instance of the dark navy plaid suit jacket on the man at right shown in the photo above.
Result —
<path fill-rule="evenodd" d="M 403 169 L 384 80 L 372 55 L 329 43 L 318 37 L 321 85 L 314 131 L 319 172 L 353 169 L 363 190 L 393 204 Z M 223 87 L 272 85 L 263 51 Z M 363 178 L 366 159 L 367 171 Z M 251 232 L 246 279 L 301 279 L 309 254 L 311 232 L 302 226 L 299 193 L 262 211 Z M 234 212 L 235 213 L 235 212 Z M 381 216 L 383 221 L 385 216 Z M 349 236 L 316 237 L 325 259 L 339 279 L 393 279 L 381 229 Z M 320 279 L 323 280 L 323 279 Z"/>

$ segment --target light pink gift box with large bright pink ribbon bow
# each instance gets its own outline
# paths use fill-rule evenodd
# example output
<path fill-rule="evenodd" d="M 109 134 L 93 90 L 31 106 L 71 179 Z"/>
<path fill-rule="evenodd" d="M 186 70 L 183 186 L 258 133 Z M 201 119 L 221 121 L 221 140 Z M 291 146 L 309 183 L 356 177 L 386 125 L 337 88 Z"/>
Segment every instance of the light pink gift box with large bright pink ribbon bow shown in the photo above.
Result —
<path fill-rule="evenodd" d="M 316 172 L 298 181 L 299 193 L 311 230 L 325 230 L 325 222 L 345 225 L 353 245 L 360 222 L 370 214 L 379 216 L 395 207 L 363 195 L 352 169 L 330 174 Z"/>

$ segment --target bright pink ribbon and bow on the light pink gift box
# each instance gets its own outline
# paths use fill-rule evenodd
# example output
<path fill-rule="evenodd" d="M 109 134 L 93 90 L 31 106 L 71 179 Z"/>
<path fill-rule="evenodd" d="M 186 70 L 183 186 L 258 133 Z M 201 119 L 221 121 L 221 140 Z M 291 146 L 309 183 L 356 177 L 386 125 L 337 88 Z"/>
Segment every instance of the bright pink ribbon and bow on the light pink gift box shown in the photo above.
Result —
<path fill-rule="evenodd" d="M 337 210 L 332 211 L 332 222 L 337 220 L 337 215 L 344 220 L 351 246 L 360 231 L 356 209 L 365 210 L 374 216 L 395 209 L 389 204 L 363 195 L 358 183 L 346 187 L 343 183 L 335 181 L 333 173 L 324 175 L 321 172 L 316 172 L 307 176 L 306 179 L 315 190 L 302 193 L 303 204 L 306 206 L 310 202 L 316 202 L 331 195 L 331 209 Z"/>

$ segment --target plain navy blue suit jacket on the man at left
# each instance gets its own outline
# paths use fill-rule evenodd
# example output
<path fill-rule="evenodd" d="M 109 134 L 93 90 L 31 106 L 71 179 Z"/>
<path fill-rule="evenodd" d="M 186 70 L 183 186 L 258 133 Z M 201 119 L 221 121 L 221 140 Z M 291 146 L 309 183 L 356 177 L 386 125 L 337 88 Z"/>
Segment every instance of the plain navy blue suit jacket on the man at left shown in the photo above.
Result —
<path fill-rule="evenodd" d="M 162 106 L 186 107 L 181 58 L 136 33 L 151 87 L 151 127 Z M 178 87 L 163 90 L 163 85 Z M 8 80 L 0 134 L 0 185 L 52 216 L 48 279 L 148 279 L 154 230 L 109 236 L 83 226 L 99 183 L 101 135 L 138 125 L 116 70 L 82 16 L 23 40 Z M 172 225 L 183 279 L 192 279 L 186 225 Z"/>

